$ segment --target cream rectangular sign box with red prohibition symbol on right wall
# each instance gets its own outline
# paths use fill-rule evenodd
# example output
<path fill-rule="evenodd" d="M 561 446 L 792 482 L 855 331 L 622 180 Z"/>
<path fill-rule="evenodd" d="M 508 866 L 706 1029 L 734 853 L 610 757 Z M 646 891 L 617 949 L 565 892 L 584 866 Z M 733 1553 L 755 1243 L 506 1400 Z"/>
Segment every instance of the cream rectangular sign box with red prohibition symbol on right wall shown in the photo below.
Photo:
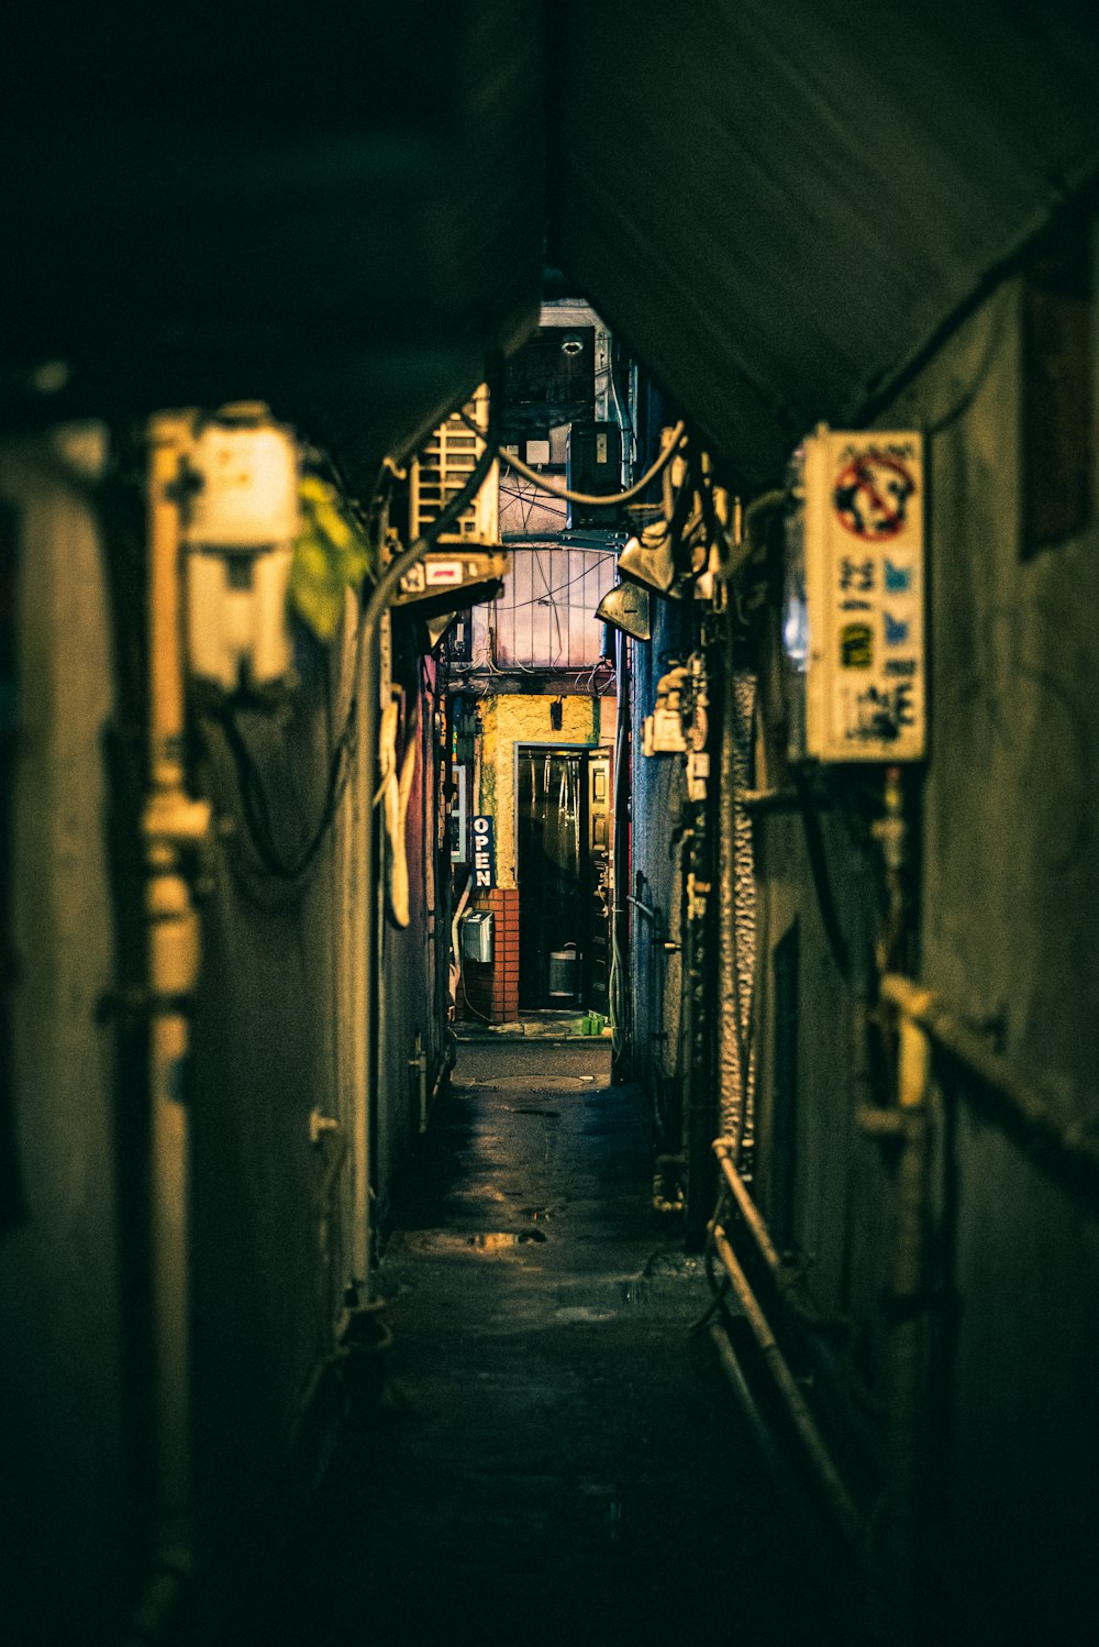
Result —
<path fill-rule="evenodd" d="M 918 761 L 926 751 L 923 438 L 819 428 L 786 517 L 793 759 Z"/>

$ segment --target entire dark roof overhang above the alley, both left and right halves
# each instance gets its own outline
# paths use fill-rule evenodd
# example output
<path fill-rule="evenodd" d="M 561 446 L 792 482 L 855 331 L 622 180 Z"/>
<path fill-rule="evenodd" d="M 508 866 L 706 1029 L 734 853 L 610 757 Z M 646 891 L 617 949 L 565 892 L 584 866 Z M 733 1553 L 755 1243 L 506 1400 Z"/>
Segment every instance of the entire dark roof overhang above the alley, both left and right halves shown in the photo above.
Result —
<path fill-rule="evenodd" d="M 1099 161 L 1076 0 L 21 7 L 0 422 L 267 397 L 352 488 L 558 257 L 745 492 L 859 420 Z"/>

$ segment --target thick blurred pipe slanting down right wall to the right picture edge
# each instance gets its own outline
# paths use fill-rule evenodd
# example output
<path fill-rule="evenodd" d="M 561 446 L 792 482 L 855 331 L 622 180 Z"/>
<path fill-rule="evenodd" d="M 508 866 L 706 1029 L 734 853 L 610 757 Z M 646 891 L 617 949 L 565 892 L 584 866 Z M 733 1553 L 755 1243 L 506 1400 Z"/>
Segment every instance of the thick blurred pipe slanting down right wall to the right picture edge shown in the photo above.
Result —
<path fill-rule="evenodd" d="M 982 1087 L 994 1095 L 1000 1120 L 1035 1135 L 1076 1181 L 1099 1191 L 1099 1141 L 1083 1127 L 1058 1117 L 1061 1100 L 1040 1080 L 1027 1079 L 1005 1057 L 994 1052 L 938 995 L 911 978 L 888 973 L 882 978 L 882 998 L 918 1024 L 931 1041 L 958 1059 Z"/>

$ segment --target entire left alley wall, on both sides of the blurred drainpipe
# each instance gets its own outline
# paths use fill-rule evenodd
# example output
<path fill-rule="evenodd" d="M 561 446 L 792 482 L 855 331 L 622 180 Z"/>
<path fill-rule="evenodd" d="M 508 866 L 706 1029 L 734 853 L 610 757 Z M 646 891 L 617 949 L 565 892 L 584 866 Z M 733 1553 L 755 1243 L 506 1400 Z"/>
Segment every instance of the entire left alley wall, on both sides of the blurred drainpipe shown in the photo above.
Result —
<path fill-rule="evenodd" d="M 0 1224 L 0 1588 L 5 1640 L 18 1647 L 114 1640 L 143 1581 L 153 1525 L 138 840 L 145 544 L 140 492 L 102 479 L 105 458 L 99 428 L 0 448 L 0 507 L 13 512 L 21 581 L 18 982 L 5 1094 L 15 1159 L 5 1164 L 25 1206 L 5 1207 Z M 263 797 L 267 856 L 298 858 L 326 815 L 332 751 L 354 698 L 354 619 L 349 600 L 332 647 L 298 636 L 298 684 L 276 713 L 234 712 L 245 764 L 217 712 L 192 716 L 191 781 L 219 822 L 199 888 L 188 1090 L 192 1459 L 207 1624 L 232 1617 L 242 1576 L 271 1558 L 273 1512 L 293 1487 L 301 1426 L 355 1273 L 352 1138 L 369 1100 L 360 985 L 373 896 L 359 843 L 372 772 L 360 749 L 332 827 L 296 876 L 271 871 L 242 800 L 248 782 Z M 415 700 L 410 636 L 395 637 L 393 656 Z M 380 939 L 388 1021 L 378 1217 L 420 1118 L 408 1067 L 416 1031 L 431 1074 L 441 1054 L 429 700 L 416 736 L 410 924 L 387 924 Z M 316 1141 L 314 1110 L 336 1123 Z"/>

